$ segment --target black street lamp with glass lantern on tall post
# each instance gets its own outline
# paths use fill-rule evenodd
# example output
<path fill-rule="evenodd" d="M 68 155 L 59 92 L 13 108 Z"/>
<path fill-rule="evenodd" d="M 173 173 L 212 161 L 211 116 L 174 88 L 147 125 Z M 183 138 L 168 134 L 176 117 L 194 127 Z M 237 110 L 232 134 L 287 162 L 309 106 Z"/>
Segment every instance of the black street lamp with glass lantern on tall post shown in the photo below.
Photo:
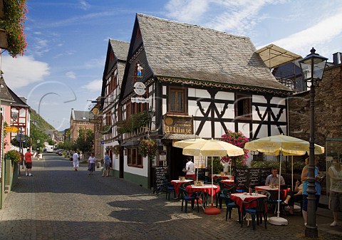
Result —
<path fill-rule="evenodd" d="M 316 225 L 316 190 L 315 190 L 315 87 L 322 80 L 324 68 L 328 58 L 324 58 L 315 53 L 314 48 L 311 53 L 299 61 L 303 78 L 310 83 L 310 145 L 309 145 L 309 175 L 308 175 L 308 212 L 305 236 L 318 237 Z M 317 85 L 315 85 L 317 84 Z"/>

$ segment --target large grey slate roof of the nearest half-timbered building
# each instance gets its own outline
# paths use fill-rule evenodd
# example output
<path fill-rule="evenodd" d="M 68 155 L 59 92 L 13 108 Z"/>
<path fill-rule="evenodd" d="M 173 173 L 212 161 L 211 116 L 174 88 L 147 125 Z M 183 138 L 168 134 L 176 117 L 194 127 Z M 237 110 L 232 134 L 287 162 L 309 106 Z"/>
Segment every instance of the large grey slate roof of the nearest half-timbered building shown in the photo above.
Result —
<path fill-rule="evenodd" d="M 274 78 L 247 37 L 144 14 L 137 20 L 157 77 L 291 91 Z"/>

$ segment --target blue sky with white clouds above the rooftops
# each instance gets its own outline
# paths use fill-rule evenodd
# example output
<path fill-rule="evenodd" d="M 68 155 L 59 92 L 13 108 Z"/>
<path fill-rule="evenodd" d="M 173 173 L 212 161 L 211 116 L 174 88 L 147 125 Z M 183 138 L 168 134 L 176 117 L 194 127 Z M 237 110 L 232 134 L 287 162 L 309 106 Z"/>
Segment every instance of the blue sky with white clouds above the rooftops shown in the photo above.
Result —
<path fill-rule="evenodd" d="M 100 95 L 108 39 L 130 41 L 135 14 L 196 24 L 332 61 L 342 52 L 342 1 L 315 0 L 28 0 L 24 56 L 1 57 L 4 80 L 57 130 L 71 108 Z"/>

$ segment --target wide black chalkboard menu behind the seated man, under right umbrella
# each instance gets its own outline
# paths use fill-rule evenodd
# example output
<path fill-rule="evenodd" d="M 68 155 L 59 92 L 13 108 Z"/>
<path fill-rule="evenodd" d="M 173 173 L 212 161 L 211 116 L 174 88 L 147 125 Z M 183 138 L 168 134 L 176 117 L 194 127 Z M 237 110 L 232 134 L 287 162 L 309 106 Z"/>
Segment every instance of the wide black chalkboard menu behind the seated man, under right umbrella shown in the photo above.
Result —
<path fill-rule="evenodd" d="M 271 168 L 237 168 L 235 169 L 234 183 L 240 186 L 264 185 L 266 177 L 271 174 Z"/>

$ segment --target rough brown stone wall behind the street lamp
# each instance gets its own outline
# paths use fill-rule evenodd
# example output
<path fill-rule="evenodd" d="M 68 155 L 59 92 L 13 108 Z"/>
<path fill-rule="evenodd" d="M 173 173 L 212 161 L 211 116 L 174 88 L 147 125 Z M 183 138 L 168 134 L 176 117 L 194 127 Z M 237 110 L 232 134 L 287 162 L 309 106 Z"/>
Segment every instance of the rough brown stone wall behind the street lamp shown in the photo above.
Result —
<path fill-rule="evenodd" d="M 342 64 L 326 68 L 315 96 L 315 143 L 326 145 L 326 138 L 342 138 Z M 290 135 L 309 141 L 309 91 L 289 99 Z"/>

